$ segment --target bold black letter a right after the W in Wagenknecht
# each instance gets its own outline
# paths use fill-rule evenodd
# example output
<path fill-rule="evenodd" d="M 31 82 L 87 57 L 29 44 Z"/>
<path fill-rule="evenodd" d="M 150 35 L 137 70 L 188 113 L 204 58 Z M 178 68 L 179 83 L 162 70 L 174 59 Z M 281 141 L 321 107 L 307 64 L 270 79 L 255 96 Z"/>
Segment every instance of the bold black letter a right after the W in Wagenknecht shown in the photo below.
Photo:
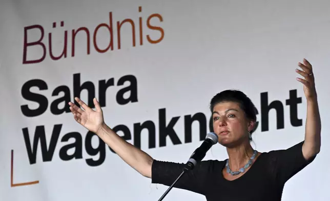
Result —
<path fill-rule="evenodd" d="M 61 142 L 68 142 L 70 138 L 75 140 L 74 143 L 63 146 L 59 150 L 59 158 L 62 160 L 83 158 L 83 138 L 81 134 L 78 132 L 67 133 L 62 137 Z M 70 155 L 68 151 L 72 148 L 74 148 L 74 153 Z"/>

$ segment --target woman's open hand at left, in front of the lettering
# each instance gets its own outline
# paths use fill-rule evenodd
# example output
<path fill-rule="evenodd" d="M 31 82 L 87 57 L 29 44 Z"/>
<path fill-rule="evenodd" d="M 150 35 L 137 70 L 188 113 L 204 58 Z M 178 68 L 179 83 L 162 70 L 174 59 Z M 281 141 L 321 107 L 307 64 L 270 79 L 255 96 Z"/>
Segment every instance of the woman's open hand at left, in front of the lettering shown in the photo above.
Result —
<path fill-rule="evenodd" d="M 74 119 L 79 124 L 83 125 L 89 131 L 97 134 L 97 131 L 104 124 L 103 112 L 102 109 L 97 102 L 96 98 L 93 99 L 93 103 L 95 105 L 95 111 L 92 110 L 88 105 L 86 105 L 83 100 L 78 97 L 74 98 L 78 104 L 84 109 L 79 108 L 72 102 L 69 102 L 70 110 L 73 114 Z"/>

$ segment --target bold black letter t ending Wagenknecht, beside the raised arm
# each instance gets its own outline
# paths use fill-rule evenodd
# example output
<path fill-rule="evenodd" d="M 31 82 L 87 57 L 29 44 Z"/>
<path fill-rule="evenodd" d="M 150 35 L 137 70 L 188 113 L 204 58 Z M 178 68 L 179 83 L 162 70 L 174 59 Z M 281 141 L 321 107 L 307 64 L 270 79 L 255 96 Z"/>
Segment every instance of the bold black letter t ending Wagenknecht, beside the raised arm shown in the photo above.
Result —
<path fill-rule="evenodd" d="M 302 126 L 302 119 L 298 119 L 298 104 L 301 97 L 297 97 L 297 90 L 290 90 L 290 98 L 286 99 L 286 105 L 290 106 L 290 122 L 292 126 Z"/>

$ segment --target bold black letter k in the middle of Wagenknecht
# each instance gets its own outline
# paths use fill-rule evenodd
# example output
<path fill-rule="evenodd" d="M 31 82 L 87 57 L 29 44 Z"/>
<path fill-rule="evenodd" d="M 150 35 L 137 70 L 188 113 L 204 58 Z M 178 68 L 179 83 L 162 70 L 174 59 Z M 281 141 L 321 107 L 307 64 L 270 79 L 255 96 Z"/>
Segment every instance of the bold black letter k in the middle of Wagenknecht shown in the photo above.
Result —
<path fill-rule="evenodd" d="M 169 136 L 174 145 L 182 144 L 173 127 L 177 123 L 180 116 L 171 118 L 170 123 L 166 126 L 166 108 L 159 109 L 159 146 L 166 146 L 166 137 Z"/>

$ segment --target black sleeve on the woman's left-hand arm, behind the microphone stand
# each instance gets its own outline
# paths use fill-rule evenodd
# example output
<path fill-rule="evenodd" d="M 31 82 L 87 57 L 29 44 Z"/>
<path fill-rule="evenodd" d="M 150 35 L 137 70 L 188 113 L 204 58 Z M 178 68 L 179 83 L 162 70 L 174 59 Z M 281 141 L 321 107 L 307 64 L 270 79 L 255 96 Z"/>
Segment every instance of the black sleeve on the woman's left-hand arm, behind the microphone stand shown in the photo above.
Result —
<path fill-rule="evenodd" d="M 205 195 L 207 181 L 212 174 L 212 160 L 203 160 L 193 170 L 185 172 L 174 185 L 174 188 L 185 189 Z M 154 160 L 152 164 L 151 179 L 154 184 L 171 186 L 177 177 L 182 173 L 184 164 L 173 162 L 161 162 Z"/>

